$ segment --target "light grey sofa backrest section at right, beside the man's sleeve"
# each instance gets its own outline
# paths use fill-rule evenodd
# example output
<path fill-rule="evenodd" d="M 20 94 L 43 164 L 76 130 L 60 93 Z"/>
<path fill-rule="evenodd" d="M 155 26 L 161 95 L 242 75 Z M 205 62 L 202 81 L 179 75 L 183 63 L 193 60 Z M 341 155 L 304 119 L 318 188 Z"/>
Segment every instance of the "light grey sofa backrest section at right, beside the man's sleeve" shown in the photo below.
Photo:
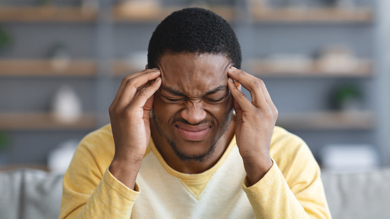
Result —
<path fill-rule="evenodd" d="M 333 219 L 390 218 L 390 167 L 321 178 Z"/>

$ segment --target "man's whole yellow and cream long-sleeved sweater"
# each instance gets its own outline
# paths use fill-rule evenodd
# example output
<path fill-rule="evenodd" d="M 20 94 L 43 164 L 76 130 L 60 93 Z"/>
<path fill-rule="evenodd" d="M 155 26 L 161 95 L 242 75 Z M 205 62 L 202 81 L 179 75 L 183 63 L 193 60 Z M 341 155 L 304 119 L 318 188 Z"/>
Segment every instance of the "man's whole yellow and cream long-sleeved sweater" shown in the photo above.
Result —
<path fill-rule="evenodd" d="M 330 218 L 320 170 L 299 137 L 275 127 L 273 165 L 252 186 L 235 137 L 199 174 L 170 168 L 150 140 L 132 190 L 108 170 L 111 126 L 85 136 L 63 178 L 59 218 Z"/>

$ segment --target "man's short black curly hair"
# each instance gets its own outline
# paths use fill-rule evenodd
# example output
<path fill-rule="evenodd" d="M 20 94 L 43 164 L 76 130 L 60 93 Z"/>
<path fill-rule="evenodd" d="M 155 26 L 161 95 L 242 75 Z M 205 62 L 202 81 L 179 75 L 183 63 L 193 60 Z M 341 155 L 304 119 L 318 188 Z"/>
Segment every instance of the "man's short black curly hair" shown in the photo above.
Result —
<path fill-rule="evenodd" d="M 165 52 L 222 54 L 241 68 L 241 48 L 233 28 L 204 8 L 174 11 L 157 25 L 147 48 L 148 67 L 157 67 Z"/>

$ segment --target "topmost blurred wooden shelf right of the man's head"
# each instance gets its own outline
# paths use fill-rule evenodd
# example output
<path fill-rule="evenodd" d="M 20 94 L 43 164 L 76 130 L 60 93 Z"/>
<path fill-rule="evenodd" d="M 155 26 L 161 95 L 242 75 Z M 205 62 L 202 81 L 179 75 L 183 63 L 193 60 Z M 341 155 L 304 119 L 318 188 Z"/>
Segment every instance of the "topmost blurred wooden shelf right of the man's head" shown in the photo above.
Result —
<path fill-rule="evenodd" d="M 367 8 L 341 9 L 341 8 L 252 8 L 252 16 L 256 22 L 275 23 L 349 23 L 349 22 L 371 22 L 372 11 Z"/>

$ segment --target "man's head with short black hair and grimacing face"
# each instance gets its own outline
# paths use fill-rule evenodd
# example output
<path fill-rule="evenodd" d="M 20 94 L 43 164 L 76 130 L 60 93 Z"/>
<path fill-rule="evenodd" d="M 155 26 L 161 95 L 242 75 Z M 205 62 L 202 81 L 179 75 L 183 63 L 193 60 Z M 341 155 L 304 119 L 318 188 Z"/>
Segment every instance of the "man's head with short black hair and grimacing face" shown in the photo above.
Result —
<path fill-rule="evenodd" d="M 209 10 L 182 9 L 156 27 L 148 67 L 160 69 L 161 86 L 154 95 L 152 117 L 181 160 L 212 157 L 232 117 L 227 70 L 240 64 L 234 31 Z"/>

